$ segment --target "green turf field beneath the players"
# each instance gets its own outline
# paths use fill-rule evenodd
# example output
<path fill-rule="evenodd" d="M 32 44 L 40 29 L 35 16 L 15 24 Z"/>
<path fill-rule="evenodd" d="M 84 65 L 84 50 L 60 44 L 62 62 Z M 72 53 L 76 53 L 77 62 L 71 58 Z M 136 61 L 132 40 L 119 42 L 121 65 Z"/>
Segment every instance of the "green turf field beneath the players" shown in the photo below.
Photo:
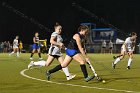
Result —
<path fill-rule="evenodd" d="M 89 54 L 96 72 L 106 80 L 105 84 L 96 79 L 85 82 L 80 66 L 75 61 L 69 65 L 70 72 L 77 75 L 73 80 L 66 81 L 64 73 L 59 71 L 48 82 L 45 67 L 27 70 L 29 56 L 30 54 L 21 54 L 16 58 L 0 54 L 0 93 L 140 93 L 140 55 L 134 56 L 131 70 L 126 69 L 128 57 L 113 70 L 113 55 Z M 42 56 L 46 60 L 46 55 Z M 35 54 L 34 60 L 37 59 L 38 55 Z M 58 62 L 55 60 L 47 69 L 56 64 Z M 88 72 L 92 75 L 89 68 Z"/>

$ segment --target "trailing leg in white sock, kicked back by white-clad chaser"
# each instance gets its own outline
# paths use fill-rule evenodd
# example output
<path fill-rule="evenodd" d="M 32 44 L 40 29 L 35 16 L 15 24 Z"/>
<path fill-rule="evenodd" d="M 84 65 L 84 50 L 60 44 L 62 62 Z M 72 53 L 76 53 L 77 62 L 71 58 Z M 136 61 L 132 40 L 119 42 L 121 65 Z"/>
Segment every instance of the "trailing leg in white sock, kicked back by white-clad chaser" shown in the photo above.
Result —
<path fill-rule="evenodd" d="M 31 61 L 30 64 L 28 65 L 28 68 L 31 68 L 33 66 L 46 66 L 48 67 L 54 60 L 55 58 L 53 56 L 48 56 L 47 58 L 47 61 L 44 61 L 44 60 L 41 60 L 41 61 L 37 61 L 37 62 L 34 62 L 34 61 Z"/>

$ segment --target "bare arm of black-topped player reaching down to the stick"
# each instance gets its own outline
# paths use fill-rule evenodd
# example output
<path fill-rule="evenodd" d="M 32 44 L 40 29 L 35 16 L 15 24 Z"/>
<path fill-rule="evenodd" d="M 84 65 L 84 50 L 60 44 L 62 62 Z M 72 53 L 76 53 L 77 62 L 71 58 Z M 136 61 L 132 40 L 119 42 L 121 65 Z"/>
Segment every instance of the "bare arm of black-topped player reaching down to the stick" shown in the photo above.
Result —
<path fill-rule="evenodd" d="M 84 48 L 82 47 L 80 36 L 78 34 L 75 34 L 73 38 L 76 40 L 77 46 L 78 46 L 81 54 L 83 55 L 83 57 L 85 59 L 88 58 L 86 53 L 85 53 Z"/>

